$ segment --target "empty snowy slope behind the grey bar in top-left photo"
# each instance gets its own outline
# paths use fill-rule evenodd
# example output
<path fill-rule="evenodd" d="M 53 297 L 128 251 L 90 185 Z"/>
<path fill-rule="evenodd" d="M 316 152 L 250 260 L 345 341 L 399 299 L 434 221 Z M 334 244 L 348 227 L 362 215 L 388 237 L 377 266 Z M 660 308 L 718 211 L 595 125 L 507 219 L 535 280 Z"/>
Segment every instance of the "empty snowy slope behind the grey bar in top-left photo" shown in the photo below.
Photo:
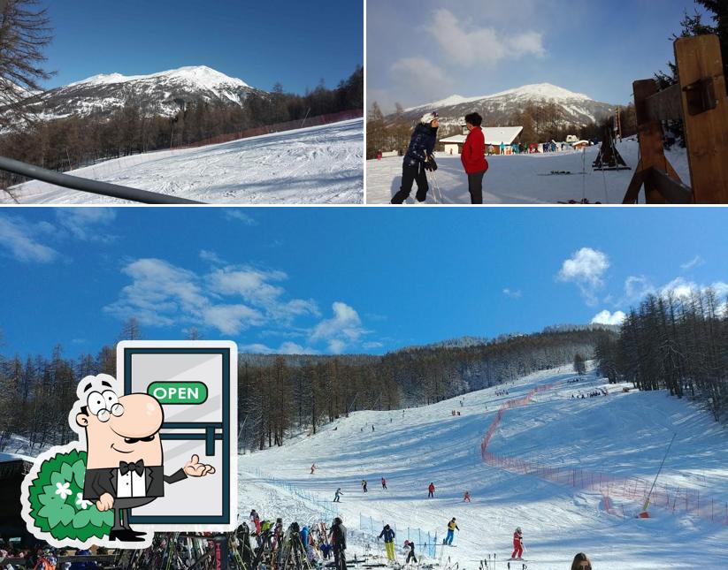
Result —
<path fill-rule="evenodd" d="M 364 122 L 266 134 L 201 148 L 125 156 L 69 172 L 210 203 L 361 203 Z M 12 188 L 21 203 L 128 203 L 39 182 Z M 4 194 L 0 201 L 12 203 Z"/>

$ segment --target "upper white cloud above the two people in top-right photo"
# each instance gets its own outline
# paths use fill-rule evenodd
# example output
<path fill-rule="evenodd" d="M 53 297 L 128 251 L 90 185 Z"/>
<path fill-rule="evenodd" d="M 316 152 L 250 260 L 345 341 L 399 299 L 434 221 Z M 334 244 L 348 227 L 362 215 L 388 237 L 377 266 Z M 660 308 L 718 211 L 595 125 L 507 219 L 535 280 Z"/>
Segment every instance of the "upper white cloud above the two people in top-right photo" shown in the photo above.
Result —
<path fill-rule="evenodd" d="M 543 34 L 535 31 L 499 31 L 494 27 L 474 27 L 457 19 L 446 8 L 434 11 L 432 23 L 425 29 L 440 44 L 448 60 L 464 67 L 496 65 L 503 59 L 543 57 Z"/>

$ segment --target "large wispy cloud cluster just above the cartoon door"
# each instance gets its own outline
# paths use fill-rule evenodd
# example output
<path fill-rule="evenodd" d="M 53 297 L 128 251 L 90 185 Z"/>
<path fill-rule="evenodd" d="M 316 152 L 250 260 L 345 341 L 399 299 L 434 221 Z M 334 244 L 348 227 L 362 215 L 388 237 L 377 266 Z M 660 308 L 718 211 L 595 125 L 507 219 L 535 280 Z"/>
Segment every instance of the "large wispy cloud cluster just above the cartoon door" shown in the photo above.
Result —
<path fill-rule="evenodd" d="M 203 258 L 217 258 L 208 254 L 201 252 Z M 287 298 L 280 285 L 287 279 L 283 271 L 226 266 L 198 275 L 155 258 L 128 262 L 122 271 L 131 283 L 121 289 L 118 300 L 104 308 L 121 319 L 134 316 L 143 325 L 195 326 L 223 335 L 275 325 L 281 328 L 272 334 L 309 338 L 310 346 L 291 341 L 277 349 L 254 344 L 247 346 L 251 352 L 316 353 L 311 346 L 319 342 L 330 352 L 341 353 L 358 344 L 367 332 L 356 310 L 338 301 L 333 303 L 332 318 L 312 328 L 294 328 L 296 318 L 320 314 L 314 300 Z"/>

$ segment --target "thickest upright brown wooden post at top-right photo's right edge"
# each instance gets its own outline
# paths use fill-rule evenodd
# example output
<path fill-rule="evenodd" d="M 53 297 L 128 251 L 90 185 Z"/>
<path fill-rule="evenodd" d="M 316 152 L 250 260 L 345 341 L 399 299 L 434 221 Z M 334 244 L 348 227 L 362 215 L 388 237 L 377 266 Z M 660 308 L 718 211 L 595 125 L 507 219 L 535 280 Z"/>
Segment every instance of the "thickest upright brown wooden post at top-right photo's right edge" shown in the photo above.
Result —
<path fill-rule="evenodd" d="M 728 203 L 728 101 L 720 42 L 716 35 L 679 39 L 675 42 L 675 58 L 694 200 L 701 204 Z M 717 105 L 691 115 L 686 87 L 703 79 L 712 80 Z"/>

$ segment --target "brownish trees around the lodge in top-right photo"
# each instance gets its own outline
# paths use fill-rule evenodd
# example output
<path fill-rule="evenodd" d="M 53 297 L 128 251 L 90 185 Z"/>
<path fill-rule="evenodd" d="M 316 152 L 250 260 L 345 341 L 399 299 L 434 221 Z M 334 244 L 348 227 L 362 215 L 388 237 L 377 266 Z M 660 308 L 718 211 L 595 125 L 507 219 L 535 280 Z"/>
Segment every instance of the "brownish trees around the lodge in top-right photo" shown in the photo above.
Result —
<path fill-rule="evenodd" d="M 637 133 L 637 118 L 634 105 L 631 104 L 620 110 L 623 136 Z M 602 138 L 602 125 L 611 124 L 613 118 L 602 123 L 592 122 L 589 125 L 572 125 L 565 118 L 563 110 L 556 103 L 527 103 L 522 110 L 513 113 L 508 119 L 508 125 L 523 126 L 521 142 L 525 144 L 565 141 L 570 134 L 576 134 L 579 139 L 592 140 Z M 503 126 L 498 121 L 488 121 L 486 117 L 483 126 Z M 407 152 L 410 145 L 413 125 L 404 118 L 402 105 L 396 103 L 393 118 L 385 118 L 379 104 L 372 103 L 366 124 L 366 157 L 368 160 L 376 158 L 381 151 L 396 150 L 401 156 Z M 455 134 L 462 134 L 463 129 L 457 125 L 441 126 L 438 139 L 445 139 Z M 440 148 L 441 150 L 442 148 Z"/>

